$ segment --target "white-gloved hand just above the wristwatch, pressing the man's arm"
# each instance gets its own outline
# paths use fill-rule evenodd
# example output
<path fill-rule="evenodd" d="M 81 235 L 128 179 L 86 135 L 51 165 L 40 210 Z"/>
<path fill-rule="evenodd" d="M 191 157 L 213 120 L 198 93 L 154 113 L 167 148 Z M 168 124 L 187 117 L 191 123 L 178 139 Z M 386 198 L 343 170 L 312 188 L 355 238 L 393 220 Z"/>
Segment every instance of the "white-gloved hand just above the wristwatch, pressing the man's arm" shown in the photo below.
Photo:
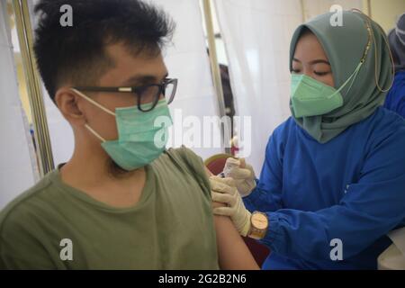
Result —
<path fill-rule="evenodd" d="M 232 178 L 210 177 L 211 197 L 214 202 L 227 204 L 227 207 L 213 209 L 215 215 L 229 216 L 235 228 L 242 236 L 247 236 L 250 230 L 251 213 L 245 208 L 242 198 Z"/>

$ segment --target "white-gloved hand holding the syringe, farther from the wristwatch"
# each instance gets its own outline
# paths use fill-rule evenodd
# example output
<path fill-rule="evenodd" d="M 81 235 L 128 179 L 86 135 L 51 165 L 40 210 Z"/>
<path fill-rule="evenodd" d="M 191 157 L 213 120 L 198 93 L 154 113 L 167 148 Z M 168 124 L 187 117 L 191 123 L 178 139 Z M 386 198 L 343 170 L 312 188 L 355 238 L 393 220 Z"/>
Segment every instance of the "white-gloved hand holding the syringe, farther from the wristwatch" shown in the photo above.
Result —
<path fill-rule="evenodd" d="M 235 159 L 229 157 L 223 168 L 223 175 L 235 180 L 238 192 L 242 197 L 252 193 L 256 187 L 256 175 L 253 167 L 246 164 L 245 158 Z"/>

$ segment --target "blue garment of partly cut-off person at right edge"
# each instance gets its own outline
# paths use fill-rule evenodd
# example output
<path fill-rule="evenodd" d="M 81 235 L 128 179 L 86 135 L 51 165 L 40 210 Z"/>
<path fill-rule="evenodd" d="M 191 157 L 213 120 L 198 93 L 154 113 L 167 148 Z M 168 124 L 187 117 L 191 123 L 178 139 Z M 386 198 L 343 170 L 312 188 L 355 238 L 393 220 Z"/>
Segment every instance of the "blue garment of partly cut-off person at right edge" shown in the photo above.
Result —
<path fill-rule="evenodd" d="M 395 74 L 392 88 L 385 98 L 384 107 L 405 118 L 405 70 Z"/>

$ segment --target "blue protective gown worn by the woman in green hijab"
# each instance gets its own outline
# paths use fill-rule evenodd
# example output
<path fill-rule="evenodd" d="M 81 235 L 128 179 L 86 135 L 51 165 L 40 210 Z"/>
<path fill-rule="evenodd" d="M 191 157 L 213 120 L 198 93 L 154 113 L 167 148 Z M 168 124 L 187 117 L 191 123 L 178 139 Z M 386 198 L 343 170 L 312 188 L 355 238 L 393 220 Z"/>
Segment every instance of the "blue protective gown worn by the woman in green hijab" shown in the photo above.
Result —
<path fill-rule="evenodd" d="M 405 120 L 379 107 L 320 144 L 288 119 L 244 202 L 269 219 L 263 269 L 376 268 L 385 234 L 405 226 Z"/>

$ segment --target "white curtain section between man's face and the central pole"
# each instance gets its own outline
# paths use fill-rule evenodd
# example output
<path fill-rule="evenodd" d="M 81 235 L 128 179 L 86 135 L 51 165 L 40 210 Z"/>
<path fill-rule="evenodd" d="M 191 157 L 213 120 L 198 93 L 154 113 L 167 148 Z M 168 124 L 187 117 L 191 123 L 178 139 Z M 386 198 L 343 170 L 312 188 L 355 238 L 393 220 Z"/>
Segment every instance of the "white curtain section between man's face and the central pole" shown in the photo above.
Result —
<path fill-rule="evenodd" d="M 173 46 L 168 47 L 165 53 L 170 77 L 179 79 L 175 101 L 170 107 L 175 129 L 171 143 L 175 147 L 184 144 L 202 158 L 222 153 L 224 149 L 220 148 L 219 127 L 208 125 L 207 122 L 203 124 L 204 118 L 212 120 L 220 112 L 212 84 L 199 0 L 149 2 L 161 6 L 176 23 Z M 180 114 L 183 120 L 176 117 Z M 194 133 L 195 137 L 187 137 L 193 134 L 193 129 L 197 131 Z M 211 139 L 211 144 L 204 145 L 203 140 L 208 138 Z"/>

